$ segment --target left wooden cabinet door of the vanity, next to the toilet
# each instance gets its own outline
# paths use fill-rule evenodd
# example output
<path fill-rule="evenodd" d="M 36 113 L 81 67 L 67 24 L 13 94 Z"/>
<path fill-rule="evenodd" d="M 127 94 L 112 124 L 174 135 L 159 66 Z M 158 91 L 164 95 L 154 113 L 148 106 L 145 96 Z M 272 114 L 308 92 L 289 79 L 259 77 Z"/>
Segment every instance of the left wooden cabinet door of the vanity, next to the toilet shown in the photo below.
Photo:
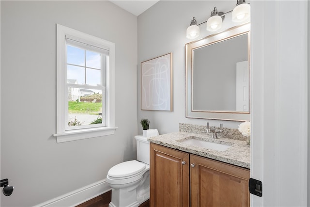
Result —
<path fill-rule="evenodd" d="M 189 207 L 188 163 L 188 153 L 150 144 L 151 207 Z"/>

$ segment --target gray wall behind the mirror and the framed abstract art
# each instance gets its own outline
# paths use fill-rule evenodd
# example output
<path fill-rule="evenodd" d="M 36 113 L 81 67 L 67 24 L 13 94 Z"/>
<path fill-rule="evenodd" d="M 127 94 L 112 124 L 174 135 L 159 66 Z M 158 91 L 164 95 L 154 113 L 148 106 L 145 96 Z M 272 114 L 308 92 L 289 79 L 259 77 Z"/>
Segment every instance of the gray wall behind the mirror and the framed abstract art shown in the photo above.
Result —
<path fill-rule="evenodd" d="M 160 134 L 178 131 L 178 123 L 206 125 L 205 119 L 186 118 L 185 94 L 185 45 L 186 28 L 193 16 L 202 23 L 211 15 L 216 6 L 220 12 L 228 12 L 235 1 L 159 1 L 146 12 L 138 16 L 138 121 L 150 119 L 150 128 L 157 128 Z M 225 17 L 221 31 L 235 26 L 231 13 Z M 206 24 L 200 26 L 198 39 L 212 34 L 206 31 Z M 140 63 L 172 52 L 172 111 L 141 111 Z M 207 80 L 206 80 L 207 81 Z M 208 90 L 208 89 L 206 89 Z M 212 89 L 209 89 L 212 90 Z M 223 123 L 224 127 L 236 128 L 240 122 L 208 120 L 211 124 Z M 140 124 L 138 131 L 142 130 Z"/>

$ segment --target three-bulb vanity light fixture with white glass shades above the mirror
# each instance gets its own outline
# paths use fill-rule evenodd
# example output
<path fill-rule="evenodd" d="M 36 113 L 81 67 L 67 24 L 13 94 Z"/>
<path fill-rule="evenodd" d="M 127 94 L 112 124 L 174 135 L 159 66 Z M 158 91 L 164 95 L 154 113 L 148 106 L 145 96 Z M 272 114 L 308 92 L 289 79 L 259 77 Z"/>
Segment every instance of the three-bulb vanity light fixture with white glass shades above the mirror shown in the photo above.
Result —
<path fill-rule="evenodd" d="M 236 7 L 226 13 L 217 12 L 217 7 L 214 7 L 213 11 L 211 12 L 211 16 L 207 21 L 204 21 L 200 24 L 197 24 L 195 17 L 193 20 L 190 21 L 190 25 L 186 30 L 186 38 L 188 39 L 195 39 L 200 34 L 199 25 L 203 23 L 207 23 L 207 31 L 215 32 L 222 27 L 222 22 L 225 18 L 225 15 L 228 13 L 233 12 L 232 14 L 232 21 L 233 22 L 243 22 L 249 19 L 250 17 L 250 6 L 249 3 L 246 3 L 246 0 L 237 0 Z"/>

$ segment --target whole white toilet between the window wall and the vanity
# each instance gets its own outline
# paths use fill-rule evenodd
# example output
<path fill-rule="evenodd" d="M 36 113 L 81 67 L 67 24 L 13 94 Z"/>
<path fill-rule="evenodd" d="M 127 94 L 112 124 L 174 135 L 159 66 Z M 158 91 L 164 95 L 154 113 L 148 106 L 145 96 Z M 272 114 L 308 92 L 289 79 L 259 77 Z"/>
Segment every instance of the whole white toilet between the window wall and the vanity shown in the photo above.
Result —
<path fill-rule="evenodd" d="M 138 207 L 150 198 L 150 143 L 144 136 L 135 136 L 137 160 L 117 164 L 108 172 L 112 188 L 109 207 Z"/>

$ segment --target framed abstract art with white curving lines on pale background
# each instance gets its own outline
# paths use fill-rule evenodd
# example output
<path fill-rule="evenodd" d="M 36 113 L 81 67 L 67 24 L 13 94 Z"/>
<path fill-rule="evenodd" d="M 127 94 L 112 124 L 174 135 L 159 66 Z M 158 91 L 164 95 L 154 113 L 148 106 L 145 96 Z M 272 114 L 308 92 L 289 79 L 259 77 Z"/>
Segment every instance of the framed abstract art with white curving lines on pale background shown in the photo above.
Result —
<path fill-rule="evenodd" d="M 141 110 L 171 111 L 171 53 L 141 63 Z"/>

